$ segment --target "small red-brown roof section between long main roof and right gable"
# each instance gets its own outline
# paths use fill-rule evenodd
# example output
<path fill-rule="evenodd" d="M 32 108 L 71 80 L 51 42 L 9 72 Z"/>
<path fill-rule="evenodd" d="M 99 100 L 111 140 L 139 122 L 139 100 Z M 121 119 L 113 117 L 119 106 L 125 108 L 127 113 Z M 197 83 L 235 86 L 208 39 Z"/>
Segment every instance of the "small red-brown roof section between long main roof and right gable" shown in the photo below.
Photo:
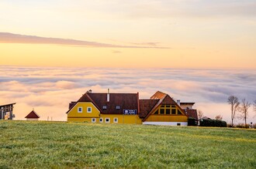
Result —
<path fill-rule="evenodd" d="M 140 118 L 146 117 L 158 102 L 159 100 L 140 100 Z"/>

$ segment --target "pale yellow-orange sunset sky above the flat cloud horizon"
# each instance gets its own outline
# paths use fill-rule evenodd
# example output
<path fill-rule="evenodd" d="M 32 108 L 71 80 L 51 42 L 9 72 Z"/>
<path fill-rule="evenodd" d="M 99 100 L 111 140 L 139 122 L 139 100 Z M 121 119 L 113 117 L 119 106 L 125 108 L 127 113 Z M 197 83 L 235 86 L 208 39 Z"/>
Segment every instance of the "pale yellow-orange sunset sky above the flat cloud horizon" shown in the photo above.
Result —
<path fill-rule="evenodd" d="M 4 0 L 1 65 L 254 69 L 255 8 L 254 0 Z"/>

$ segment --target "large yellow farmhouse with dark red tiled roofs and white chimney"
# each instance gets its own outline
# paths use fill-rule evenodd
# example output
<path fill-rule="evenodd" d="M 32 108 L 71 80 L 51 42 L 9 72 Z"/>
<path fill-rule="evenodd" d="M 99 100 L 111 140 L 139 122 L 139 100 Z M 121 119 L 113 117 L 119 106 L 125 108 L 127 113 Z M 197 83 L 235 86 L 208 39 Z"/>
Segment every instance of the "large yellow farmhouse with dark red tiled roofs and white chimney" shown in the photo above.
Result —
<path fill-rule="evenodd" d="M 69 104 L 67 121 L 186 126 L 188 115 L 171 96 L 159 91 L 148 100 L 140 100 L 139 93 L 88 91 Z"/>

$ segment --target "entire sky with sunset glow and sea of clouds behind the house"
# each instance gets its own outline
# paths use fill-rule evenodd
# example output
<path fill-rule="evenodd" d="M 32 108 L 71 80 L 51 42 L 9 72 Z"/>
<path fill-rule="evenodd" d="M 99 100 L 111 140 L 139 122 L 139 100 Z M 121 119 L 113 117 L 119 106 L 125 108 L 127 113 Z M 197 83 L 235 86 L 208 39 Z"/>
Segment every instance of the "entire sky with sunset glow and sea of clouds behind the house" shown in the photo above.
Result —
<path fill-rule="evenodd" d="M 67 103 L 89 89 L 144 98 L 161 90 L 228 120 L 229 94 L 256 100 L 255 8 L 255 0 L 2 0 L 0 104 L 16 101 L 21 119 L 35 108 L 65 120 Z"/>

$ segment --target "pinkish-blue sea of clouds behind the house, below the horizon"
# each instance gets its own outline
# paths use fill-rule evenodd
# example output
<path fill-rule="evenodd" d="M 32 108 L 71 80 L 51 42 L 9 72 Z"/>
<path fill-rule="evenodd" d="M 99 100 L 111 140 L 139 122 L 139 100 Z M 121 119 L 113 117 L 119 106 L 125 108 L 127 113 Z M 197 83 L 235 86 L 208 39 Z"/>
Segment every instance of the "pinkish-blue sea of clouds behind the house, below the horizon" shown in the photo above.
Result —
<path fill-rule="evenodd" d="M 68 103 L 83 93 L 140 93 L 157 90 L 175 100 L 195 102 L 205 116 L 221 114 L 230 123 L 227 97 L 256 100 L 256 70 L 237 69 L 117 69 L 0 66 L 0 105 L 16 103 L 16 120 L 35 110 L 40 120 L 67 120 Z M 256 123 L 252 107 L 248 122 Z M 236 123 L 243 122 L 236 120 Z"/>

